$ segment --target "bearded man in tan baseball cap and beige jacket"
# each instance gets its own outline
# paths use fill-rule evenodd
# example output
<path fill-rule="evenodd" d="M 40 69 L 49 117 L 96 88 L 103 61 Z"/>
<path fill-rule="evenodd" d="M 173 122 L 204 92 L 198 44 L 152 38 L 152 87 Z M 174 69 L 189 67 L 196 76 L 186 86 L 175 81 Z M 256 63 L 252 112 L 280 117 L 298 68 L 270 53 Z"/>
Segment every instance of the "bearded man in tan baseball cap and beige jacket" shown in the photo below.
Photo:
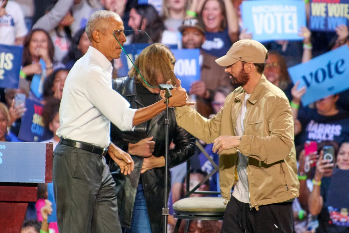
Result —
<path fill-rule="evenodd" d="M 299 195 L 294 122 L 281 89 L 263 74 L 267 49 L 245 39 L 216 60 L 236 88 L 211 119 L 189 106 L 177 124 L 213 143 L 219 154 L 221 195 L 228 204 L 221 233 L 293 233 L 292 201 Z M 232 187 L 234 187 L 231 194 Z"/>

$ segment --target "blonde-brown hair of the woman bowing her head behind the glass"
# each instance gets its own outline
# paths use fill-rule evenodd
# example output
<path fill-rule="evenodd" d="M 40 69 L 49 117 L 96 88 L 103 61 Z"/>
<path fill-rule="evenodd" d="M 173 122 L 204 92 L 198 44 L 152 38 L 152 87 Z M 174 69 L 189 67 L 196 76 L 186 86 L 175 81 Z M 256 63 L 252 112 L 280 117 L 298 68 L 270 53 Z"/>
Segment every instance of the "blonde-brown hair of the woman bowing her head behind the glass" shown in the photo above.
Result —
<path fill-rule="evenodd" d="M 160 84 L 158 78 L 163 78 L 162 84 L 165 84 L 168 80 L 171 80 L 172 85 L 176 84 L 176 76 L 173 73 L 175 62 L 176 59 L 173 53 L 166 45 L 155 43 L 142 50 L 134 61 L 134 65 L 149 85 L 157 87 Z M 134 77 L 135 83 L 144 83 L 135 67 L 131 68 L 128 76 Z"/>

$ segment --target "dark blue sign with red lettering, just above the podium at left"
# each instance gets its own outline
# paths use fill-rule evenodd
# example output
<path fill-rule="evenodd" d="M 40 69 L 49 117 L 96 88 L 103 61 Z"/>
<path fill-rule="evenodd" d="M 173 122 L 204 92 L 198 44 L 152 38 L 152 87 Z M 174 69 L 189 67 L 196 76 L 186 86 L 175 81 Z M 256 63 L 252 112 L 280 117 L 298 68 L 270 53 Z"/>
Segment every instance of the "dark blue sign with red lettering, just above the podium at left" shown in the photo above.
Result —
<path fill-rule="evenodd" d="M 27 108 L 27 111 L 22 117 L 18 139 L 36 143 L 52 138 L 52 132 L 44 127 L 42 119 L 43 105 L 26 99 L 25 108 Z"/>

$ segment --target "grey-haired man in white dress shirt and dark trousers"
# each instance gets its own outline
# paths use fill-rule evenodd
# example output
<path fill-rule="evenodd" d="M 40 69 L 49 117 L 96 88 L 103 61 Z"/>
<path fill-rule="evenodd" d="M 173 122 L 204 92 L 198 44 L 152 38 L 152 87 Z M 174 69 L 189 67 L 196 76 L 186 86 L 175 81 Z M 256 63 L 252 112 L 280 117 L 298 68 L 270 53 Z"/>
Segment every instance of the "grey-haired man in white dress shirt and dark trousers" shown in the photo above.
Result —
<path fill-rule="evenodd" d="M 116 13 L 100 10 L 86 25 L 91 46 L 69 72 L 60 104 L 61 138 L 54 151 L 53 184 L 60 233 L 120 232 L 115 183 L 105 164 L 110 157 L 125 175 L 133 170 L 131 157 L 110 143 L 110 122 L 121 130 L 148 121 L 166 105 L 159 101 L 142 109 L 112 89 L 110 61 L 120 57 L 126 37 Z M 190 105 L 186 92 L 173 90 L 170 107 Z"/>

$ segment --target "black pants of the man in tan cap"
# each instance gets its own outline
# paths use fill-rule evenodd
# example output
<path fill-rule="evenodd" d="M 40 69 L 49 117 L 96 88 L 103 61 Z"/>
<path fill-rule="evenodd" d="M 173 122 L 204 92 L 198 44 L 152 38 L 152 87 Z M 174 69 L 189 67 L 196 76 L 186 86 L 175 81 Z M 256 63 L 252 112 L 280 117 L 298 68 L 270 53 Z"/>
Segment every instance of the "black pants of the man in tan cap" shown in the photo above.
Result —
<path fill-rule="evenodd" d="M 247 203 L 231 196 L 221 233 L 293 233 L 292 202 L 262 205 L 250 210 Z"/>

